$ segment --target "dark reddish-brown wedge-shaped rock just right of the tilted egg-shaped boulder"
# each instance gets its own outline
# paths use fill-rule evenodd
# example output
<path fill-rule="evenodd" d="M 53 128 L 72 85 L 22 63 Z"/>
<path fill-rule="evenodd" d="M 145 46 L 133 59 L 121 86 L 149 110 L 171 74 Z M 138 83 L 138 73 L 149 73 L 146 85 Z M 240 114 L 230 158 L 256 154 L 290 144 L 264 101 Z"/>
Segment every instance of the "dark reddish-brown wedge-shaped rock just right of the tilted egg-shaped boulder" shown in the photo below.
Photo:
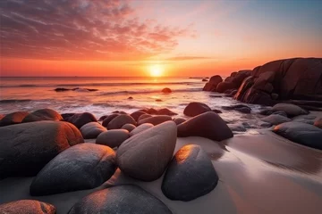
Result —
<path fill-rule="evenodd" d="M 178 126 L 178 136 L 202 136 L 214 141 L 222 141 L 233 137 L 230 128 L 213 111 L 199 114 Z"/>

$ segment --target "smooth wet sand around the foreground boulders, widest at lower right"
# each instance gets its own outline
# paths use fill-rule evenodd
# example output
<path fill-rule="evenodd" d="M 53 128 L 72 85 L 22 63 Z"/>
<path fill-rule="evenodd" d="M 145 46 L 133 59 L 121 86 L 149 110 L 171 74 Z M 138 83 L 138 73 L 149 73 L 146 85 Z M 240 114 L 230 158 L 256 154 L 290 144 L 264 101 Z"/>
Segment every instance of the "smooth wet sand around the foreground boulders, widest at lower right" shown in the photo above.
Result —
<path fill-rule="evenodd" d="M 161 191 L 162 178 L 140 182 L 118 169 L 96 189 L 31 197 L 32 177 L 0 180 L 0 203 L 37 199 L 67 213 L 83 196 L 111 185 L 140 185 L 174 214 L 192 213 L 320 213 L 322 210 L 322 152 L 294 144 L 268 129 L 258 135 L 234 136 L 217 143 L 201 137 L 178 138 L 175 152 L 199 144 L 208 152 L 219 176 L 216 188 L 191 202 L 171 201 Z"/>

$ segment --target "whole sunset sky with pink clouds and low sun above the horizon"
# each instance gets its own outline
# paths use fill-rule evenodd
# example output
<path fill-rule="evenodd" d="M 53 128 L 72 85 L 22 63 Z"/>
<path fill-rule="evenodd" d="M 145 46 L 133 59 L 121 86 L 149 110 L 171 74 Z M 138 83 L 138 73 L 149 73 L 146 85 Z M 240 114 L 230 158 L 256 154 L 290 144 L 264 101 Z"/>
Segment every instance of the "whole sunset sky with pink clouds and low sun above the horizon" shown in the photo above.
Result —
<path fill-rule="evenodd" d="M 0 76 L 206 77 L 322 57 L 318 0 L 1 0 Z"/>

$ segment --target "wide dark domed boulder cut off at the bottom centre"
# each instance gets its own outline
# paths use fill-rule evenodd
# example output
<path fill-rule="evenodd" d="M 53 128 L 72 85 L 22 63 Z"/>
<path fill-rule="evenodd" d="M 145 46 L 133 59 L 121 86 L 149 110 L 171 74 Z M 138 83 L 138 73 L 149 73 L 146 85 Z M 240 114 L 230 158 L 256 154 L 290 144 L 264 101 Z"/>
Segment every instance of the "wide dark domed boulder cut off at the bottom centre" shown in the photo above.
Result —
<path fill-rule="evenodd" d="M 69 212 L 88 213 L 172 214 L 163 202 L 136 185 L 118 185 L 91 193 L 77 202 Z"/>

